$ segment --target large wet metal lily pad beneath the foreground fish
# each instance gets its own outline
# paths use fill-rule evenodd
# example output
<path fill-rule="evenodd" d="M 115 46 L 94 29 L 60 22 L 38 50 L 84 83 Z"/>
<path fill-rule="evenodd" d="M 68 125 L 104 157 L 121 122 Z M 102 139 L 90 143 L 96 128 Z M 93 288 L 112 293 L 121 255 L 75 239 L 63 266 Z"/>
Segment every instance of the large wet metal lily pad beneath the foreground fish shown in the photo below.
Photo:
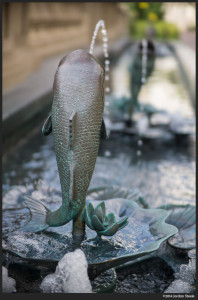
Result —
<path fill-rule="evenodd" d="M 91 201 L 94 207 L 97 202 Z M 95 238 L 93 230 L 86 227 L 86 237 L 80 248 L 86 255 L 92 278 L 102 271 L 157 250 L 164 240 L 177 233 L 175 226 L 165 223 L 169 215 L 165 210 L 143 209 L 132 200 L 119 198 L 106 200 L 105 204 L 107 213 L 114 213 L 118 220 L 127 216 L 129 224 L 113 237 L 102 237 L 100 240 Z M 6 219 L 5 213 L 4 217 Z M 21 212 L 19 217 L 15 212 L 9 219 L 9 228 L 4 226 L 3 248 L 10 253 L 28 262 L 47 266 L 47 262 L 49 265 L 57 264 L 67 252 L 74 250 L 71 222 L 42 233 L 27 233 L 20 232 L 24 219 Z"/>

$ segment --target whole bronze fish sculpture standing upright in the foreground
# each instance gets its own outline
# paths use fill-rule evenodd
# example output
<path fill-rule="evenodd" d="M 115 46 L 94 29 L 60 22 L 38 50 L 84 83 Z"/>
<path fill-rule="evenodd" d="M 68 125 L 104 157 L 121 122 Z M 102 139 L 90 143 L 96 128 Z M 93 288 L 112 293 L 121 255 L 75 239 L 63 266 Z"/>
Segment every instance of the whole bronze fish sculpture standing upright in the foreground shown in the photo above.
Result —
<path fill-rule="evenodd" d="M 62 190 L 62 205 L 49 210 L 41 201 L 26 197 L 31 220 L 25 230 L 39 232 L 73 219 L 73 235 L 84 233 L 83 212 L 94 171 L 103 121 L 104 69 L 93 55 L 75 50 L 63 57 L 53 84 L 51 114 L 42 132 L 52 132 Z"/>

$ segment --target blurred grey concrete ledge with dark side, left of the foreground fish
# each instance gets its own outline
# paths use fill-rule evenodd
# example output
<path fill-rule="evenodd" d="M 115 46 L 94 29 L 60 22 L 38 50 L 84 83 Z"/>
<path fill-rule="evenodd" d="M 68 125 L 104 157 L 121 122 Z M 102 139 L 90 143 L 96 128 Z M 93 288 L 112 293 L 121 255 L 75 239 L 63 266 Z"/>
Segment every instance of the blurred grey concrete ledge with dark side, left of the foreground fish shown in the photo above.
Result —
<path fill-rule="evenodd" d="M 59 61 L 60 57 L 44 61 L 22 84 L 3 94 L 4 151 L 17 143 L 47 114 L 53 77 Z"/>

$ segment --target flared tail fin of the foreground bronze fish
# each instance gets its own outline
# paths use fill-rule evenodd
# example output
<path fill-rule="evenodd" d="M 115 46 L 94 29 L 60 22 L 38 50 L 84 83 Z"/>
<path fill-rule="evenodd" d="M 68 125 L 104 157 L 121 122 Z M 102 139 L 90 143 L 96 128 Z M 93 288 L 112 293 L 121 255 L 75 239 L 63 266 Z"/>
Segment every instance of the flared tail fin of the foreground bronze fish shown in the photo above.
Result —
<path fill-rule="evenodd" d="M 21 229 L 29 232 L 39 232 L 49 225 L 46 223 L 46 217 L 51 212 L 41 201 L 35 200 L 30 196 L 25 196 L 25 204 L 30 210 L 31 220 Z"/>

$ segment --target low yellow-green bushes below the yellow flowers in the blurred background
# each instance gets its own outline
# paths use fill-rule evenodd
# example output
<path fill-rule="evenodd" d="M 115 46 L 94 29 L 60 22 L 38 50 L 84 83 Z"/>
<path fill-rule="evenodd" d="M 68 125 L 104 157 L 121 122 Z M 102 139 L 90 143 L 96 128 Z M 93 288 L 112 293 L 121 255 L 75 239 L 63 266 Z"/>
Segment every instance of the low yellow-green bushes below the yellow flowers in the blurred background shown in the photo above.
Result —
<path fill-rule="evenodd" d="M 177 26 L 165 21 L 157 21 L 152 24 L 144 20 L 134 21 L 130 24 L 130 33 L 134 38 L 144 38 L 150 26 L 153 27 L 157 39 L 177 39 L 179 37 Z"/>

